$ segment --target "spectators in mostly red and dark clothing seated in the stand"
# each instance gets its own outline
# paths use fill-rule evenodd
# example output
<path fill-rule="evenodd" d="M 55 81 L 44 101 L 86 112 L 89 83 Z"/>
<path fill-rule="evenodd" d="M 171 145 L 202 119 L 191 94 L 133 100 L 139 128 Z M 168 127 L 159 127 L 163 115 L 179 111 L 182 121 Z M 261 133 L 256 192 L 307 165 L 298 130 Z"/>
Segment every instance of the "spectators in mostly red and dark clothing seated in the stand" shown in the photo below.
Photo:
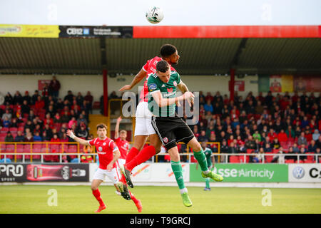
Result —
<path fill-rule="evenodd" d="M 90 91 L 83 96 L 69 90 L 59 98 L 58 88 L 60 83 L 55 89 L 50 83 L 33 95 L 28 91 L 24 96 L 19 91 L 14 96 L 7 93 L 4 105 L 0 105 L 0 141 L 73 142 L 66 136 L 67 129 L 80 138 L 92 138 L 88 135 L 88 115 L 93 107 Z M 109 98 L 118 97 L 113 92 Z M 198 124 L 190 128 L 199 142 L 220 142 L 221 153 L 255 153 L 248 162 L 262 162 L 262 154 L 269 152 L 320 153 L 320 95 L 269 92 L 255 97 L 250 92 L 245 98 L 235 93 L 231 100 L 220 92 L 204 95 L 200 91 L 199 102 Z M 218 152 L 218 144 L 208 146 Z M 179 150 L 187 152 L 185 145 L 180 144 Z M 279 157 L 275 155 L 271 162 L 277 162 Z M 300 156 L 300 160 L 307 157 Z M 295 162 L 297 157 L 285 159 Z"/>

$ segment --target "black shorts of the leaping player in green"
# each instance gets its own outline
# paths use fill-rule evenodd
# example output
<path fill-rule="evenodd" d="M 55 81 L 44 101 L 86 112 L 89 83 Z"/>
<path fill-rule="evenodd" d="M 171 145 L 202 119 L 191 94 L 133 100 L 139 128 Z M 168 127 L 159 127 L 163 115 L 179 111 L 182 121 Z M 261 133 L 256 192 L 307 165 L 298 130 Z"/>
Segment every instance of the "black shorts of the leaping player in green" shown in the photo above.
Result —
<path fill-rule="evenodd" d="M 167 150 L 176 146 L 176 142 L 187 144 L 194 138 L 192 130 L 182 120 L 175 117 L 152 117 L 152 126 Z"/>

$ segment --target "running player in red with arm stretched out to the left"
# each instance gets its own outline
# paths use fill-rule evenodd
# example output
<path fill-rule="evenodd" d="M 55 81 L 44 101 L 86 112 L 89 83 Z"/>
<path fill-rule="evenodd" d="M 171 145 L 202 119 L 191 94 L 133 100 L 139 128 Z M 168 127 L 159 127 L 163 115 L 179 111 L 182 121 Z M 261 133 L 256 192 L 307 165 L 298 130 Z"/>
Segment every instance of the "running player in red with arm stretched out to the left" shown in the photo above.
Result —
<path fill-rule="evenodd" d="M 76 142 L 79 142 L 81 145 L 94 145 L 96 147 L 99 159 L 99 167 L 93 175 L 93 181 L 91 182 L 93 196 L 96 197 L 97 201 L 99 202 L 99 208 L 95 212 L 101 212 L 103 209 L 106 209 L 106 204 L 103 202 L 103 199 L 101 199 L 101 192 L 98 190 L 99 185 L 101 185 L 106 176 L 113 181 L 113 184 L 118 192 L 123 192 L 123 197 L 126 197 L 128 200 L 133 199 L 133 202 L 135 202 L 136 207 L 138 208 L 138 212 L 141 212 L 140 201 L 131 195 L 131 192 L 128 191 L 126 186 L 124 186 L 122 190 L 119 190 L 116 185 L 119 180 L 116 174 L 116 161 L 119 157 L 121 157 L 121 153 L 119 152 L 116 143 L 106 136 L 107 126 L 103 123 L 98 124 L 98 138 L 94 138 L 93 140 L 83 140 L 78 138 L 73 134 L 72 130 L 67 130 L 67 135 Z"/>

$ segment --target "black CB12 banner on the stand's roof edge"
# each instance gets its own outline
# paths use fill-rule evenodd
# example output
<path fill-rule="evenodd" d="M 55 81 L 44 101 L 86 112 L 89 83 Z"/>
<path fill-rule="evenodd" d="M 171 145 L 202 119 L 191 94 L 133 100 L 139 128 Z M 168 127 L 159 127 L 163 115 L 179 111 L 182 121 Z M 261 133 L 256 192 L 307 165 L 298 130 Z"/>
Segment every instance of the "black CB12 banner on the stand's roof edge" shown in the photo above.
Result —
<path fill-rule="evenodd" d="M 59 37 L 133 38 L 132 26 L 59 26 Z"/>

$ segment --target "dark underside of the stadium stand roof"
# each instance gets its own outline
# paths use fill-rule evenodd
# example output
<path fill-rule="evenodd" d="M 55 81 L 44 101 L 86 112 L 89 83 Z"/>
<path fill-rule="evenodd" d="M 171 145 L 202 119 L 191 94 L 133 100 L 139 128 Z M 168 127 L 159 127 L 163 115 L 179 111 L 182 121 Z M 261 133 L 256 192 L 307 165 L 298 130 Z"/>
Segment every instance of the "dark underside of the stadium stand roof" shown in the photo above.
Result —
<path fill-rule="evenodd" d="M 2 74 L 136 74 L 164 43 L 182 75 L 320 75 L 321 38 L 0 38 Z"/>

